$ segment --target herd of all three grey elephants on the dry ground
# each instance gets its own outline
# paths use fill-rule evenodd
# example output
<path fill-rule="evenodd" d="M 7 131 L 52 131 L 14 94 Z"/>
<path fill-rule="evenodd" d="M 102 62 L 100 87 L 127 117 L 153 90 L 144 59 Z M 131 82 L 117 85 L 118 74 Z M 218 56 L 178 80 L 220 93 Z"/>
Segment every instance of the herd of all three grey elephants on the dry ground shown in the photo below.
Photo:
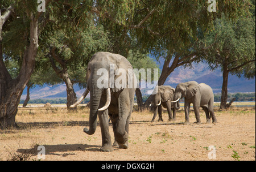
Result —
<path fill-rule="evenodd" d="M 122 69 L 121 72 L 118 69 Z M 128 148 L 129 122 L 133 111 L 136 89 L 131 86 L 137 85 L 137 79 L 133 70 L 130 69 L 133 69 L 133 67 L 122 55 L 108 52 L 94 54 L 88 63 L 86 90 L 81 98 L 70 106 L 70 108 L 75 108 L 90 92 L 89 129 L 84 128 L 84 132 L 89 135 L 94 134 L 98 117 L 102 136 L 102 147 L 100 150 L 103 152 L 113 151 L 109 132 L 109 118 L 113 124 L 115 137 L 113 145 L 119 145 L 119 148 Z M 102 73 L 99 71 L 104 71 L 102 75 L 104 77 L 101 76 Z M 154 104 L 154 117 L 152 121 L 154 121 L 157 113 L 159 113 L 159 121 L 163 121 L 162 106 L 167 108 L 169 121 L 174 121 L 176 110 L 180 108 L 179 99 L 183 97 L 185 98 L 185 124 L 189 123 L 191 103 L 193 104 L 197 124 L 201 123 L 200 106 L 205 111 L 207 123 L 210 123 L 210 117 L 212 117 L 213 123 L 217 122 L 213 112 L 214 96 L 212 89 L 209 85 L 198 84 L 196 81 L 180 83 L 176 89 L 170 86 L 158 86 L 158 92 L 154 95 L 154 101 L 152 102 Z"/>

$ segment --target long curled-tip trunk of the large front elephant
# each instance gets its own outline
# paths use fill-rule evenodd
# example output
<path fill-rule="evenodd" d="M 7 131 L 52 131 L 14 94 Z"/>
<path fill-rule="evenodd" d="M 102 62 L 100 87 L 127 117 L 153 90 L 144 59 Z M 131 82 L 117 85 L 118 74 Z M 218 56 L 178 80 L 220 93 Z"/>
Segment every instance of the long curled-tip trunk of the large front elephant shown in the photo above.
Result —
<path fill-rule="evenodd" d="M 97 115 L 103 89 L 97 88 L 97 83 L 93 83 L 93 88 L 90 89 L 90 116 L 89 130 L 84 128 L 84 132 L 88 135 L 93 135 L 97 127 Z"/>

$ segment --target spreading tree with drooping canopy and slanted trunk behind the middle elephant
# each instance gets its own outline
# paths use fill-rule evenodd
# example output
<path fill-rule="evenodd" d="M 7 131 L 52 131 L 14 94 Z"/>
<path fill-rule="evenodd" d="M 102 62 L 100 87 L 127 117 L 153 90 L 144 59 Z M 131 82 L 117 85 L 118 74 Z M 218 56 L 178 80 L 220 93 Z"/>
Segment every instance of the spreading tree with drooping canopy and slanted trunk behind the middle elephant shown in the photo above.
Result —
<path fill-rule="evenodd" d="M 218 1 L 217 12 L 208 11 L 208 1 L 95 1 L 93 10 L 102 23 L 125 32 L 125 42 L 135 38 L 139 49 L 165 59 L 158 85 L 163 85 L 176 67 L 191 66 L 203 58 L 201 38 L 210 31 L 222 12 L 228 18 L 246 13 L 249 1 Z M 113 9 L 112 7 L 115 6 Z M 114 23 L 114 24 L 113 24 Z M 150 104 L 151 97 L 144 106 Z"/>

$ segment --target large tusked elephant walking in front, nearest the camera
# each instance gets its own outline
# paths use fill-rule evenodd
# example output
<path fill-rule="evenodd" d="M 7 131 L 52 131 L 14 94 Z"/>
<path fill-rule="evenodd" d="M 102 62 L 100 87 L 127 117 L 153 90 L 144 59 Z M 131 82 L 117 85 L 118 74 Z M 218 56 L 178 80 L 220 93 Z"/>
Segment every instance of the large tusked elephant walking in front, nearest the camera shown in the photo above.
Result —
<path fill-rule="evenodd" d="M 119 70 L 121 72 L 118 72 Z M 75 104 L 71 105 L 71 108 L 79 105 L 90 92 L 89 130 L 84 128 L 84 132 L 89 135 L 94 134 L 98 116 L 102 135 L 100 150 L 103 152 L 113 151 L 109 133 L 109 117 L 113 124 L 115 142 L 119 144 L 119 148 L 128 148 L 129 121 L 133 111 L 136 88 L 128 87 L 127 78 L 137 83 L 133 67 L 125 57 L 119 54 L 98 52 L 88 63 L 85 92 Z M 105 82 L 103 85 L 102 81 Z"/>

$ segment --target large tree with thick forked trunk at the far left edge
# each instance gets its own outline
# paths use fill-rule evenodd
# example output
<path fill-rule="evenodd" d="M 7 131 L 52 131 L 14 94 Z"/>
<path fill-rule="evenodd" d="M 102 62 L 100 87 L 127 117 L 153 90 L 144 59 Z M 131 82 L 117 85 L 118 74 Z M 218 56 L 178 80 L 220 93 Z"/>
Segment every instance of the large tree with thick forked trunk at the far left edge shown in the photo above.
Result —
<path fill-rule="evenodd" d="M 46 1 L 48 6 L 49 1 Z M 35 67 L 38 37 L 45 17 L 35 1 L 1 1 L 0 12 L 0 128 L 17 126 L 15 116 L 20 96 Z M 3 15 L 2 15 L 3 12 Z M 11 78 L 5 61 L 16 58 L 19 74 Z"/>

